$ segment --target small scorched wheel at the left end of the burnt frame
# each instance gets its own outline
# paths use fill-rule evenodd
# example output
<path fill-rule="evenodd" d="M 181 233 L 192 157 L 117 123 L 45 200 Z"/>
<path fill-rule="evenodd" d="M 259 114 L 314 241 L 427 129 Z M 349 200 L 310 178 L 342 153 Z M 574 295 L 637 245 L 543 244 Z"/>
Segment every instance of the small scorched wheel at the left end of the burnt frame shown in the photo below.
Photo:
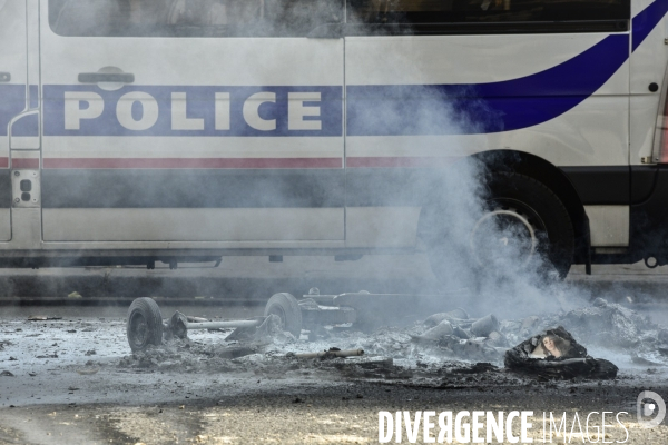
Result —
<path fill-rule="evenodd" d="M 137 298 L 128 309 L 128 343 L 132 352 L 163 344 L 163 314 L 153 298 Z"/>

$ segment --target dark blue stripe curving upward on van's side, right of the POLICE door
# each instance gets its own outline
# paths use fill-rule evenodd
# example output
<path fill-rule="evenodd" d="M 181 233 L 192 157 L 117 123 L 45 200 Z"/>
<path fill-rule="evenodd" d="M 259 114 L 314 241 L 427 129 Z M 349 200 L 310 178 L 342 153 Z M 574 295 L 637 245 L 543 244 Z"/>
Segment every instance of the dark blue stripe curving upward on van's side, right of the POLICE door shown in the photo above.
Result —
<path fill-rule="evenodd" d="M 348 86 L 347 136 L 474 135 L 551 120 L 598 90 L 629 56 L 608 36 L 572 59 L 519 79 L 470 85 Z"/>

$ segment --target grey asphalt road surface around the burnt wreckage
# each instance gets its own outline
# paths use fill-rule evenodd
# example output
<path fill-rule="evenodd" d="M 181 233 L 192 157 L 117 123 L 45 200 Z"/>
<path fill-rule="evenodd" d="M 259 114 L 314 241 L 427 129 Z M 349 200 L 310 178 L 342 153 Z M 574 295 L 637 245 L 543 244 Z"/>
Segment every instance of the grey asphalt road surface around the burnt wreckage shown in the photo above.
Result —
<path fill-rule="evenodd" d="M 573 268 L 564 284 L 547 289 L 501 285 L 493 299 L 475 289 L 443 288 L 418 255 L 355 263 L 226 258 L 217 269 L 2 270 L 0 372 L 6 373 L 0 375 L 0 444 L 373 444 L 379 443 L 379 412 L 394 416 L 400 411 L 412 419 L 416 412 L 428 411 L 436 416 L 531 411 L 533 427 L 528 435 L 534 443 L 550 442 L 543 413 L 548 418 L 552 413 L 557 424 L 566 413 L 569 434 L 552 432 L 551 443 L 569 437 L 571 443 L 668 443 L 666 419 L 642 428 L 636 414 L 641 390 L 668 399 L 668 367 L 633 362 L 629 347 L 590 349 L 619 366 L 613 380 L 544 382 L 508 374 L 502 360 L 491 360 L 499 366 L 493 372 L 466 374 L 439 367 L 442 363 L 433 356 L 426 365 L 395 360 L 395 374 L 385 378 L 320 362 L 295 365 L 265 354 L 216 362 L 216 349 L 208 345 L 220 343 L 223 334 L 215 332 L 193 334 L 190 344 L 150 362 L 151 357 L 134 357 L 126 338 L 125 314 L 134 297 L 157 297 L 164 317 L 179 309 L 206 318 L 247 318 L 262 314 L 275 291 L 298 295 L 313 286 L 332 294 L 452 291 L 440 301 L 444 309 L 458 304 L 472 316 L 493 312 L 500 318 L 588 307 L 592 298 L 605 297 L 648 316 L 648 323 L 668 320 L 665 268 L 595 266 L 593 271 L 586 276 Z M 543 297 L 540 304 L 532 303 Z M 52 319 L 30 322 L 31 316 Z M 384 335 L 399 335 L 393 333 Z M 362 335 L 318 342 L 302 336 L 269 349 L 358 344 L 373 355 L 375 347 Z M 384 355 L 392 354 L 384 350 Z M 465 367 L 474 362 L 461 363 Z M 415 369 L 410 375 L 401 374 L 411 366 Z M 612 417 L 603 421 L 602 412 L 613 413 Z M 590 413 L 597 414 L 587 424 Z M 511 426 L 519 436 L 519 419 Z M 402 443 L 410 443 L 410 432 L 402 432 Z M 391 443 L 395 439 L 394 435 Z M 418 443 L 425 443 L 422 429 Z"/>

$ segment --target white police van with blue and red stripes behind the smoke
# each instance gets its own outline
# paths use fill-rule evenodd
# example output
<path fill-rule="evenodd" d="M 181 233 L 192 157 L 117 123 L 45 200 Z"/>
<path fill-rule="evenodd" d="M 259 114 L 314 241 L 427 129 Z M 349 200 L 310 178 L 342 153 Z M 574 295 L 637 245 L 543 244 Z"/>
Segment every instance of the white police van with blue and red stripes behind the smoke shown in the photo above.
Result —
<path fill-rule="evenodd" d="M 667 11 L 0 0 L 0 264 L 436 258 L 466 159 L 560 275 L 668 264 Z"/>

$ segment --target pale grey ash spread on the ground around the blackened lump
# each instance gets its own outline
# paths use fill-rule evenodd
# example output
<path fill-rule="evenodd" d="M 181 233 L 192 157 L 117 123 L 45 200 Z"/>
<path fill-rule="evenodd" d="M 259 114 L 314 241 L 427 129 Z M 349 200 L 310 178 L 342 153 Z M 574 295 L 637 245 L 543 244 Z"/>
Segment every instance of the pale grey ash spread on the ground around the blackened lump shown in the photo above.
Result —
<path fill-rule="evenodd" d="M 504 368 L 504 355 L 511 347 L 557 326 L 568 329 L 581 345 L 593 347 L 597 357 L 615 362 L 621 357 L 640 366 L 668 366 L 668 329 L 631 309 L 597 298 L 588 307 L 517 320 L 498 320 L 491 314 L 471 318 L 465 310 L 455 309 L 410 326 L 384 326 L 372 333 L 353 326 L 303 332 L 299 338 L 275 329 L 245 339 L 234 335 L 229 336 L 234 339 L 228 339 L 232 329 L 189 333 L 189 337 L 173 338 L 125 356 L 117 367 L 137 372 L 237 373 L 275 379 L 312 375 L 434 388 L 534 384 L 537 376 L 531 373 Z M 299 357 L 332 347 L 363 349 L 364 355 Z M 591 376 L 568 378 L 587 380 Z"/>

